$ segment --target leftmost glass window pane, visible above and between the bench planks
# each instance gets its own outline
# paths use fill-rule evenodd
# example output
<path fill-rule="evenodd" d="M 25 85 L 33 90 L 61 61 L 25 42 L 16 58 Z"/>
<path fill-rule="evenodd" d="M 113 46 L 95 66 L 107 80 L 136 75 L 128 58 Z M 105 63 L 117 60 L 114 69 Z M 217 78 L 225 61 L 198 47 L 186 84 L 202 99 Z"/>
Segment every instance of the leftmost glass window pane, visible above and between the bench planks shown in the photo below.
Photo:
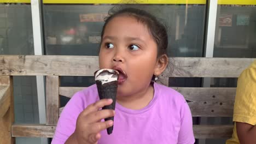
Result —
<path fill-rule="evenodd" d="M 30 1 L 8 2 L 0 1 L 0 55 L 34 55 Z M 36 76 L 13 81 L 15 123 L 39 123 Z M 16 143 L 40 143 L 40 138 L 16 137 Z"/>

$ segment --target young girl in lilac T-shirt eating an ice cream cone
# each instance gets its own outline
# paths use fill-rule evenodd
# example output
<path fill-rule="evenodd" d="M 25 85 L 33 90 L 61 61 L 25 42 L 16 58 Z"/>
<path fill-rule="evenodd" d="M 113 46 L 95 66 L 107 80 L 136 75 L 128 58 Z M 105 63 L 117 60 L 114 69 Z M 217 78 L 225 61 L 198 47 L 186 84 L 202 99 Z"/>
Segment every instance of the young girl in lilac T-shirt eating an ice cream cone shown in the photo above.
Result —
<path fill-rule="evenodd" d="M 146 11 L 126 8 L 107 18 L 101 38 L 100 69 L 120 71 L 115 111 L 100 110 L 112 100 L 99 100 L 96 85 L 77 92 L 52 143 L 194 143 L 183 95 L 152 81 L 168 63 L 165 27 Z M 112 116 L 114 122 L 102 120 Z"/>

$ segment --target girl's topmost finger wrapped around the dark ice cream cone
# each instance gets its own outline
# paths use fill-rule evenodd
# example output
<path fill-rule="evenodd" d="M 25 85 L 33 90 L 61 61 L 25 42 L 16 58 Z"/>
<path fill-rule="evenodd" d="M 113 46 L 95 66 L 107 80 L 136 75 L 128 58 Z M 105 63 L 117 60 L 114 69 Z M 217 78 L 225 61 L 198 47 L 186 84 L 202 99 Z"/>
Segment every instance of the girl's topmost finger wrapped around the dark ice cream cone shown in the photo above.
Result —
<path fill-rule="evenodd" d="M 113 103 L 112 99 L 101 99 L 96 101 L 93 104 L 90 104 L 86 109 L 81 113 L 83 116 L 88 115 L 91 112 L 98 111 L 103 106 L 110 105 Z"/>

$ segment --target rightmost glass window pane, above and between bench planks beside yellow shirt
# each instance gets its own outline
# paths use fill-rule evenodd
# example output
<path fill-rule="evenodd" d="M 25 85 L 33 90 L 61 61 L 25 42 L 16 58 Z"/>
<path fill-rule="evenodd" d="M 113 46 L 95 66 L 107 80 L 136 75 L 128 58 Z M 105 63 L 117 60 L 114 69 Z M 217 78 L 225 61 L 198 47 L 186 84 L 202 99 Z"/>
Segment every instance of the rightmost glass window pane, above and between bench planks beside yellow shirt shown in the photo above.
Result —
<path fill-rule="evenodd" d="M 218 1 L 213 57 L 256 58 L 256 5 L 250 5 L 253 3 Z M 232 77 L 211 79 L 211 87 L 236 87 L 236 83 L 237 78 Z M 232 124 L 232 117 L 208 118 L 207 123 Z"/>

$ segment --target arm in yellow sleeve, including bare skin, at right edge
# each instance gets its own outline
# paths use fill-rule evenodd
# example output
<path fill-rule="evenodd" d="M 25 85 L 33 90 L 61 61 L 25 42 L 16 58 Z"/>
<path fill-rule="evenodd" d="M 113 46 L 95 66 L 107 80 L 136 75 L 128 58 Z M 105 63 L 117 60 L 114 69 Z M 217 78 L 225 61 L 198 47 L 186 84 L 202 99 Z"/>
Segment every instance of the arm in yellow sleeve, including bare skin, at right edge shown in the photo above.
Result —
<path fill-rule="evenodd" d="M 254 62 L 255 64 L 255 62 Z M 256 143 L 256 67 L 243 71 L 237 81 L 234 106 L 236 132 L 241 144 Z"/>

